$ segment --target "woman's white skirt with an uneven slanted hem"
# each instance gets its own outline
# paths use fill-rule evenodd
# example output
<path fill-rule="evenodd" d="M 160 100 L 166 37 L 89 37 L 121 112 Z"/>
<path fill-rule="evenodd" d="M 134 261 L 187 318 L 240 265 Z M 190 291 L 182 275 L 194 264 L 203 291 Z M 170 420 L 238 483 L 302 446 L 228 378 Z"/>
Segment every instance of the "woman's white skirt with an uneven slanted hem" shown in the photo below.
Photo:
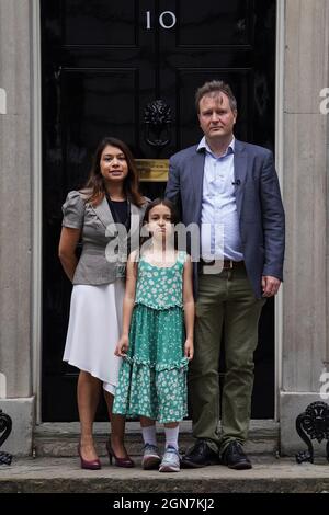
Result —
<path fill-rule="evenodd" d="M 121 357 L 114 350 L 122 331 L 125 284 L 75 285 L 63 359 L 103 381 L 115 393 Z"/>

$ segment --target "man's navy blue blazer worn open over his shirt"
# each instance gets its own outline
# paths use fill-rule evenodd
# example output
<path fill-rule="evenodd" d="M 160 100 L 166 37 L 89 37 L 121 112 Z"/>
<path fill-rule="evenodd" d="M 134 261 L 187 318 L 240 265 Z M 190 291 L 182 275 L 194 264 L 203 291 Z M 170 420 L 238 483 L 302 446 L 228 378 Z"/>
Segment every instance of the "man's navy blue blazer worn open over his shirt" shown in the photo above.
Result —
<path fill-rule="evenodd" d="M 201 225 L 204 151 L 186 148 L 170 159 L 166 197 L 181 208 L 182 221 Z M 284 209 L 273 154 L 256 145 L 235 141 L 236 202 L 247 274 L 257 298 L 261 276 L 283 279 Z M 197 293 L 197 263 L 194 263 Z"/>

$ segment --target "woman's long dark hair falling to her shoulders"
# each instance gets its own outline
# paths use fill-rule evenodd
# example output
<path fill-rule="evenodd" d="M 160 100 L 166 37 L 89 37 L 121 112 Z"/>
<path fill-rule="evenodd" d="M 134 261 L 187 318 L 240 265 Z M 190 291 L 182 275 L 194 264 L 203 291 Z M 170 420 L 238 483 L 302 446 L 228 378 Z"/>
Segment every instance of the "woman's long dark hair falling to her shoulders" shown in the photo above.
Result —
<path fill-rule="evenodd" d="M 124 180 L 124 192 L 127 196 L 127 199 L 132 202 L 132 204 L 141 206 L 145 204 L 145 199 L 139 193 L 138 171 L 133 154 L 126 144 L 124 144 L 121 139 L 112 138 L 111 136 L 107 136 L 103 138 L 102 141 L 100 141 L 93 154 L 91 171 L 84 185 L 84 190 L 90 191 L 88 202 L 97 206 L 103 201 L 105 196 L 105 184 L 103 175 L 101 174 L 100 161 L 102 152 L 104 148 L 107 147 L 107 145 L 120 148 L 123 151 L 128 164 L 128 174 Z"/>

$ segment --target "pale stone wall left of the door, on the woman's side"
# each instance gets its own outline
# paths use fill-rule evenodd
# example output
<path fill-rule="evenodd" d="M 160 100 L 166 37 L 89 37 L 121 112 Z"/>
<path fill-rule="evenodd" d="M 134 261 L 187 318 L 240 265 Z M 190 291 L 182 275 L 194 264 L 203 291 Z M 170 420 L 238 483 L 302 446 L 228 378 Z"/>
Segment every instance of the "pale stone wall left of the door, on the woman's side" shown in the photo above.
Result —
<path fill-rule="evenodd" d="M 15 453 L 31 450 L 33 415 L 30 9 L 0 0 L 0 409 L 14 426 L 4 449 Z"/>

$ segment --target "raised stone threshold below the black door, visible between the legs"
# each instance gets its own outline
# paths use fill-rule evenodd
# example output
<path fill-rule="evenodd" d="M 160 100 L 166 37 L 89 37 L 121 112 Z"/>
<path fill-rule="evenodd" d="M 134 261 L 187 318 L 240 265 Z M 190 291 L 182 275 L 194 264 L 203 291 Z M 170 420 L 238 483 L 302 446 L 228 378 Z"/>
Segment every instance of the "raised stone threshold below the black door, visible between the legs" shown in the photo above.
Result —
<path fill-rule="evenodd" d="M 94 439 L 99 456 L 105 456 L 105 442 L 109 437 L 110 426 L 107 423 L 94 424 Z M 37 457 L 72 457 L 77 456 L 80 425 L 78 422 L 68 423 L 43 423 L 37 425 L 33 437 L 33 455 Z M 163 446 L 163 427 L 157 427 L 160 448 Z M 279 423 L 271 420 L 251 421 L 249 439 L 246 451 L 252 455 L 279 454 Z M 184 453 L 193 445 L 192 423 L 183 421 L 180 427 L 180 450 Z M 140 456 L 143 442 L 138 422 L 126 424 L 126 448 L 129 455 Z"/>

